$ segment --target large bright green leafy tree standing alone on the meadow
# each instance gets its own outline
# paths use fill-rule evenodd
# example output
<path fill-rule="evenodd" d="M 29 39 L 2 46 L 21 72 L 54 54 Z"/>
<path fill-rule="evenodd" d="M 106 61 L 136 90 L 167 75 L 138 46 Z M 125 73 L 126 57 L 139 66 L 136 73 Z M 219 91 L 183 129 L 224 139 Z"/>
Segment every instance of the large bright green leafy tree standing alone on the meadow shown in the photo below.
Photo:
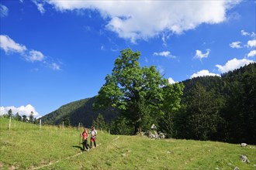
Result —
<path fill-rule="evenodd" d="M 115 107 L 134 127 L 147 128 L 166 111 L 179 107 L 182 84 L 169 84 L 155 66 L 140 67 L 140 52 L 123 49 L 99 90 L 95 107 Z"/>

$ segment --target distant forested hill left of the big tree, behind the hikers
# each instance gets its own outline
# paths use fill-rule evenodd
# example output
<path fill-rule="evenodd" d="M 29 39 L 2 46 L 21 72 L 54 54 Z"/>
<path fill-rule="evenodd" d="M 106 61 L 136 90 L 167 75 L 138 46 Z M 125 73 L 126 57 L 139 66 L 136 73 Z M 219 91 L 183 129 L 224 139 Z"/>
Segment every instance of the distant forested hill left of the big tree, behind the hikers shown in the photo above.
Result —
<path fill-rule="evenodd" d="M 86 127 L 92 125 L 92 121 L 102 114 L 105 121 L 109 123 L 117 116 L 115 110 L 93 110 L 92 104 L 95 102 L 95 97 L 77 100 L 69 104 L 61 106 L 50 114 L 41 117 L 43 124 L 71 124 L 78 126 L 78 123 L 84 124 Z"/>

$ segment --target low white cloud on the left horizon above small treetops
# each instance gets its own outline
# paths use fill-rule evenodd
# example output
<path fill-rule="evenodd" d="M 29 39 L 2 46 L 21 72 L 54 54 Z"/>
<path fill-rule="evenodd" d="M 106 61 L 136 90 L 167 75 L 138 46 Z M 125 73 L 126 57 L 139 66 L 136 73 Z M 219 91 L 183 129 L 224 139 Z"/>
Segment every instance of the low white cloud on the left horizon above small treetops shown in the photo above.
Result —
<path fill-rule="evenodd" d="M 31 114 L 31 111 L 33 111 L 33 117 L 40 117 L 40 114 L 36 111 L 35 107 L 33 107 L 31 104 L 27 104 L 26 106 L 21 107 L 0 107 L 0 115 L 2 114 L 8 114 L 8 111 L 12 109 L 12 114 L 19 113 L 20 116 L 26 115 L 29 117 Z"/>

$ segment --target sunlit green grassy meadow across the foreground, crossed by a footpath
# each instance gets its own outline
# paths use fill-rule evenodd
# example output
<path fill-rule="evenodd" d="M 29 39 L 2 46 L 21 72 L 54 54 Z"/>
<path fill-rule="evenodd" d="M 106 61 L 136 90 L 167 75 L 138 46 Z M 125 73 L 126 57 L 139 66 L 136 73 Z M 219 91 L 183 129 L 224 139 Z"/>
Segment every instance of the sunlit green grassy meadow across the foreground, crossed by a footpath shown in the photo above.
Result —
<path fill-rule="evenodd" d="M 16 124 L 16 125 L 15 125 Z M 151 140 L 100 132 L 97 148 L 81 154 L 75 128 L 0 118 L 2 169 L 256 169 L 256 149 L 215 141 Z M 246 155 L 250 164 L 240 162 Z M 1 169 L 1 168 L 0 168 Z"/>

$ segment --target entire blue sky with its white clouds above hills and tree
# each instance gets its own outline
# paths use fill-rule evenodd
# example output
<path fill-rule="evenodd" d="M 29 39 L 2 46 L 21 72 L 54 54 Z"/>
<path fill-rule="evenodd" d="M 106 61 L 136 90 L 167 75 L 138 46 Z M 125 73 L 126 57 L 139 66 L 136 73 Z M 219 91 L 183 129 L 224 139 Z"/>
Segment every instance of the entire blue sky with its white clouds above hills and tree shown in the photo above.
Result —
<path fill-rule="evenodd" d="M 1 0 L 1 114 L 94 97 L 122 49 L 170 83 L 255 62 L 256 2 Z"/>

